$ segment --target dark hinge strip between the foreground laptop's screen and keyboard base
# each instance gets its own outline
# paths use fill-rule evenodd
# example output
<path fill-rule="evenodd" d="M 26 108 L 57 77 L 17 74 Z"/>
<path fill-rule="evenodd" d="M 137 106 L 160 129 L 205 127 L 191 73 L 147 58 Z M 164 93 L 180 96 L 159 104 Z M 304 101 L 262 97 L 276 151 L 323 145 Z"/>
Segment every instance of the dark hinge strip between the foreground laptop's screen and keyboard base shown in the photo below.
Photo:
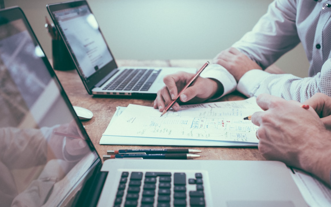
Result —
<path fill-rule="evenodd" d="M 108 175 L 108 172 L 100 171 L 101 166 L 102 163 L 100 162 L 98 166 L 96 166 L 96 170 L 94 171 L 93 175 L 84 184 L 83 190 L 81 191 L 75 206 L 97 206 L 101 191 Z"/>

